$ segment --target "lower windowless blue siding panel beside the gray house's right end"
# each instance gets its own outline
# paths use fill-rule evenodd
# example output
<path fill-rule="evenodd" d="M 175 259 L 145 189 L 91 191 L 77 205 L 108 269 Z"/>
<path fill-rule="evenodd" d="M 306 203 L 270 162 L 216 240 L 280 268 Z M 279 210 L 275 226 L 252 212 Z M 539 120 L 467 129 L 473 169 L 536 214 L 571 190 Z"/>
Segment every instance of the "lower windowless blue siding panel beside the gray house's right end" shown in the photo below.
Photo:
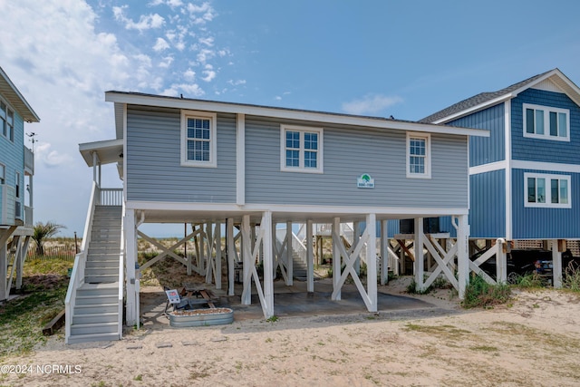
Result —
<path fill-rule="evenodd" d="M 506 171 L 471 175 L 469 184 L 470 237 L 506 237 Z"/>

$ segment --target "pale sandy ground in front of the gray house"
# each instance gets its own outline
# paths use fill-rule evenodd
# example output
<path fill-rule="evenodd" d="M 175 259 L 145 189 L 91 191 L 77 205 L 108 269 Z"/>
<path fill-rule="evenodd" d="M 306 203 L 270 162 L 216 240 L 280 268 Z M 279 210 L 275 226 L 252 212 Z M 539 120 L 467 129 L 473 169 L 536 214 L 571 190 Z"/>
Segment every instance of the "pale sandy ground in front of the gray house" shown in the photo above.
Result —
<path fill-rule="evenodd" d="M 467 311 L 449 290 L 413 297 L 430 307 L 194 328 L 146 324 L 112 343 L 65 345 L 61 335 L 2 363 L 0 385 L 580 385 L 578 295 L 517 292 L 509 305 Z"/>

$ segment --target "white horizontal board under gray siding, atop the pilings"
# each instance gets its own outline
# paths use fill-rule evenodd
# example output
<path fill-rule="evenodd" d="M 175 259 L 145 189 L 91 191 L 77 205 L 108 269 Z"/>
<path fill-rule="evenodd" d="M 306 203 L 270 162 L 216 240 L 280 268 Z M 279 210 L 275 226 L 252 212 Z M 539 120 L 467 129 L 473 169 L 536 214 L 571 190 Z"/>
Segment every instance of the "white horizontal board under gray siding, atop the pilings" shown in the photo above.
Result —
<path fill-rule="evenodd" d="M 362 206 L 312 206 L 312 205 L 285 205 L 285 204 L 246 204 L 238 206 L 233 203 L 191 203 L 191 202 L 162 202 L 162 201 L 136 201 L 128 200 L 126 208 L 143 209 L 143 210 L 167 210 L 167 211 L 203 211 L 203 212 L 223 212 L 230 211 L 233 213 L 240 212 L 264 212 L 286 214 L 304 214 L 313 213 L 317 215 L 328 215 L 332 217 L 335 214 L 361 215 L 376 214 L 389 215 L 393 218 L 398 216 L 416 215 L 416 216 L 449 216 L 449 215 L 468 215 L 469 209 L 466 208 L 401 208 L 401 207 L 362 207 Z"/>

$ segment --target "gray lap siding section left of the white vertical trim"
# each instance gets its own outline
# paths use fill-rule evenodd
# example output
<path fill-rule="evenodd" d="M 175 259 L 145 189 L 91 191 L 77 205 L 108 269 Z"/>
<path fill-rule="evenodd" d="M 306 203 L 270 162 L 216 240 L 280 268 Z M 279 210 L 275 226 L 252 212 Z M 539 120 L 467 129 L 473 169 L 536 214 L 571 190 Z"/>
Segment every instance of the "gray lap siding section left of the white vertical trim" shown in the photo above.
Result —
<path fill-rule="evenodd" d="M 236 116 L 218 114 L 218 168 L 180 165 L 180 111 L 127 111 L 127 198 L 165 202 L 236 202 Z"/>

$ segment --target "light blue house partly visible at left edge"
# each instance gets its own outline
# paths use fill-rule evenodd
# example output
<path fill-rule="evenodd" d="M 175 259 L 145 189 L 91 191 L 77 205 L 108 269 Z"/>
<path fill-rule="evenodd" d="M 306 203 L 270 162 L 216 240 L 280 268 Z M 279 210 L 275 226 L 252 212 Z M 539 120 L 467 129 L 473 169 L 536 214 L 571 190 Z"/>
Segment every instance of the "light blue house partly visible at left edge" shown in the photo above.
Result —
<path fill-rule="evenodd" d="M 8 298 L 13 279 L 16 288 L 22 284 L 22 265 L 32 235 L 34 175 L 33 152 L 24 146 L 24 122 L 38 121 L 0 67 L 0 301 Z"/>

